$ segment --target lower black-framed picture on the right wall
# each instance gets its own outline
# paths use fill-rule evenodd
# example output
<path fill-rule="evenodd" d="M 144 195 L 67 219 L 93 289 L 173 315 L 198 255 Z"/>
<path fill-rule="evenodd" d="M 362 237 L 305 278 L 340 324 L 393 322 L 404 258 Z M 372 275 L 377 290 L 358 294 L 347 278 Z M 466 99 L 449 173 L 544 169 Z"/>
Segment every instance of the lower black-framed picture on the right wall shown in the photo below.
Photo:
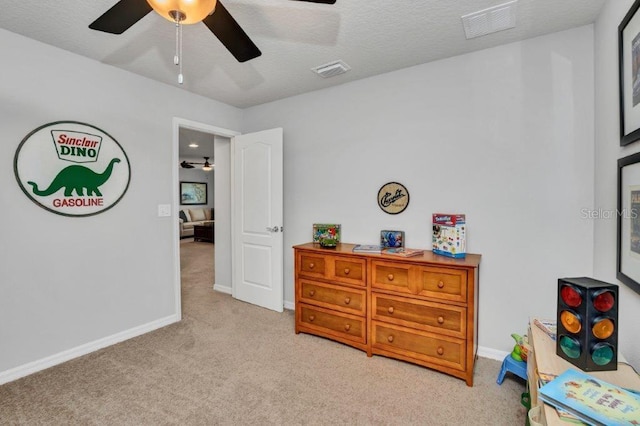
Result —
<path fill-rule="evenodd" d="M 640 293 L 640 153 L 618 160 L 617 278 Z"/>

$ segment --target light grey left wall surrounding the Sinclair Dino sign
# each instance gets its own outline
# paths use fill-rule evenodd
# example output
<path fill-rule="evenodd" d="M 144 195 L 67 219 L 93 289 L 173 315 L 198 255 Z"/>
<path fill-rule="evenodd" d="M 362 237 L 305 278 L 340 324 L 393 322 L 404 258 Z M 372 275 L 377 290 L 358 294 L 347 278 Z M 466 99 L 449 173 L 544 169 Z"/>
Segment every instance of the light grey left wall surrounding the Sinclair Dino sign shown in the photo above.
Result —
<path fill-rule="evenodd" d="M 0 30 L 0 383 L 175 321 L 174 116 L 239 129 L 241 111 Z M 58 120 L 112 135 L 131 184 L 105 213 L 69 218 L 20 190 L 13 156 Z"/>

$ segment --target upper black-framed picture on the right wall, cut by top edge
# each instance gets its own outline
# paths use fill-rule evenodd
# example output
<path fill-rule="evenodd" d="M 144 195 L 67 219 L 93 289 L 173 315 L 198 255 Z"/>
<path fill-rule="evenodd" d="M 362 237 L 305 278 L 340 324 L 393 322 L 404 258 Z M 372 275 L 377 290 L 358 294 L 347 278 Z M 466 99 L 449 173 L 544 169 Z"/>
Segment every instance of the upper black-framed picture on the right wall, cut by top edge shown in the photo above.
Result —
<path fill-rule="evenodd" d="M 640 139 L 640 0 L 618 26 L 620 145 Z"/>

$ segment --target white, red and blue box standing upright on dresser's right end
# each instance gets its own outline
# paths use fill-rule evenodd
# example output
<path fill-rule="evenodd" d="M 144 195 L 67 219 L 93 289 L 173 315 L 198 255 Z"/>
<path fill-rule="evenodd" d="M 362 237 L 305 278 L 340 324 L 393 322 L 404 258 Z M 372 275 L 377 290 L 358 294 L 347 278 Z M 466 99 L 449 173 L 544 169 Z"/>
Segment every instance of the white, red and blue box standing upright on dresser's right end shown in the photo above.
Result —
<path fill-rule="evenodd" d="M 432 251 L 448 257 L 465 257 L 467 251 L 465 215 L 433 214 Z"/>

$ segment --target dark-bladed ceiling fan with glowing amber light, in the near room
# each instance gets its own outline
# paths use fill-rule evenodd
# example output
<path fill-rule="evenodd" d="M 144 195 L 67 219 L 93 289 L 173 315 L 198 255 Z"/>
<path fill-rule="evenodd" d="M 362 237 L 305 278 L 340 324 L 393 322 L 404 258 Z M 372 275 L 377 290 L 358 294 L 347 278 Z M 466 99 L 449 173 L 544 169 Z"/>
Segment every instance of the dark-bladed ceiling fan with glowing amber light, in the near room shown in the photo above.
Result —
<path fill-rule="evenodd" d="M 324 4 L 336 2 L 336 0 L 296 1 Z M 152 10 L 176 23 L 177 26 L 203 22 L 238 62 L 245 62 L 262 54 L 247 33 L 217 0 L 120 0 L 93 21 L 89 28 L 111 34 L 122 34 Z M 175 62 L 177 65 L 178 59 L 175 59 Z"/>

